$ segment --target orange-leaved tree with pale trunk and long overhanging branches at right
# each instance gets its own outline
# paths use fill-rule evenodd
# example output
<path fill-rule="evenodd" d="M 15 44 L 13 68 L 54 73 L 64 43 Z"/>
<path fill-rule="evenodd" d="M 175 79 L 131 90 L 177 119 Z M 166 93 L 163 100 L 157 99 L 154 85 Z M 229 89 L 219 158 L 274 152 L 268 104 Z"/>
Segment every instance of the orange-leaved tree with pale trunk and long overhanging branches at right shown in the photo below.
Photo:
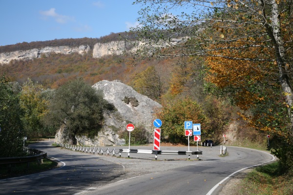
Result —
<path fill-rule="evenodd" d="M 268 131 L 278 130 L 283 141 L 292 140 L 288 138 L 293 137 L 292 0 L 136 2 L 146 5 L 138 19 L 143 27 L 136 29 L 146 40 L 137 50 L 140 55 L 204 57 L 212 84 L 243 109 L 252 109 L 254 121 L 266 121 Z M 183 43 L 171 44 L 175 38 Z M 167 45 L 167 41 L 171 53 L 162 50 L 160 43 Z M 278 157 L 285 160 L 286 155 L 292 156 L 292 142 L 286 143 L 284 148 L 276 146 L 282 154 Z"/>

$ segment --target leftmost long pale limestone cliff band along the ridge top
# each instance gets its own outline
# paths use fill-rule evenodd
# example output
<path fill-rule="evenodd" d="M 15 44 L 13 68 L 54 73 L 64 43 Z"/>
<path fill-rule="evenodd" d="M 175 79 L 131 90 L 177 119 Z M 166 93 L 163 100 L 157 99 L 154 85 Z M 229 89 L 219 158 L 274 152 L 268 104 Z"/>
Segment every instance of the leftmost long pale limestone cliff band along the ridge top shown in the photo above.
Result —
<path fill-rule="evenodd" d="M 88 52 L 90 47 L 88 45 L 80 45 L 79 47 L 68 47 L 68 46 L 58 46 L 58 47 L 44 47 L 41 49 L 30 49 L 25 51 L 15 51 L 15 52 L 5 52 L 0 53 L 0 64 L 7 64 L 13 59 L 35 59 L 41 58 L 42 55 L 48 55 L 50 53 L 57 54 L 71 54 L 79 53 L 83 54 Z"/>

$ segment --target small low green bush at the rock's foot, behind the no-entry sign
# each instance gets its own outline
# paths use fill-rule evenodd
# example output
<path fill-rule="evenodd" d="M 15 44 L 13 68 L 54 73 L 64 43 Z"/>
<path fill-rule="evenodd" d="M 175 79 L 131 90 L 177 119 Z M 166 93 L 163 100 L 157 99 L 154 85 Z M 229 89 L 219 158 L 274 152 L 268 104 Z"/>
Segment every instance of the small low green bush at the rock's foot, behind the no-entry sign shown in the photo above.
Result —
<path fill-rule="evenodd" d="M 129 144 L 129 132 L 127 130 L 119 132 L 119 137 L 125 139 L 126 144 Z M 130 144 L 147 144 L 149 143 L 150 134 L 146 131 L 143 125 L 135 126 L 130 132 Z"/>

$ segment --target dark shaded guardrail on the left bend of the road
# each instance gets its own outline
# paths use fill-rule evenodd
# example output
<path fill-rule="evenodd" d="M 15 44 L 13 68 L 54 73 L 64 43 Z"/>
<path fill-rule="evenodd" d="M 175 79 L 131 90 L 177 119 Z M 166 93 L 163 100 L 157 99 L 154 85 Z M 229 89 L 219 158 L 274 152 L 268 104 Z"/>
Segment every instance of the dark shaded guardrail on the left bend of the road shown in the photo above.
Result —
<path fill-rule="evenodd" d="M 27 167 L 29 167 L 30 162 L 38 160 L 38 163 L 41 164 L 42 159 L 47 157 L 47 153 L 44 153 L 44 152 L 37 150 L 37 149 L 23 148 L 23 150 L 29 156 L 0 158 L 0 164 L 8 164 L 10 167 L 11 164 L 27 163 Z"/>

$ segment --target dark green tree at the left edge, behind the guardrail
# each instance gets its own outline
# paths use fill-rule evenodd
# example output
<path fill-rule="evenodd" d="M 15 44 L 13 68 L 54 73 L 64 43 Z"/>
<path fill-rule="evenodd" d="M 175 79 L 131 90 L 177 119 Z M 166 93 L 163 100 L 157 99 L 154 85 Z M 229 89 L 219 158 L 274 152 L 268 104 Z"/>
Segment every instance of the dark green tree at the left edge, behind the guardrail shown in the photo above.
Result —
<path fill-rule="evenodd" d="M 4 76 L 0 79 L 0 157 L 23 155 L 23 127 L 19 98 Z"/>

